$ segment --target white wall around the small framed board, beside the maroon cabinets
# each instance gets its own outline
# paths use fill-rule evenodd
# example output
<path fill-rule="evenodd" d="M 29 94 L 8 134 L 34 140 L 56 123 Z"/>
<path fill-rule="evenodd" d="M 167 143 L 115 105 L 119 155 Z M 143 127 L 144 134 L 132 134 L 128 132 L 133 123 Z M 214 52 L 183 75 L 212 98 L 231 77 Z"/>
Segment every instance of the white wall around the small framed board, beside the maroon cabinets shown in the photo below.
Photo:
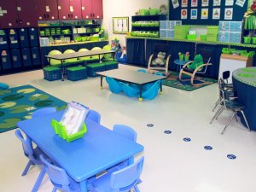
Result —
<path fill-rule="evenodd" d="M 131 16 L 139 9 L 159 8 L 161 4 L 168 5 L 168 0 L 102 0 L 103 20 L 102 26 L 108 31 L 108 39 L 119 37 L 121 46 L 125 46 L 124 34 L 113 34 L 112 17 L 129 16 L 129 31 L 131 32 Z"/>

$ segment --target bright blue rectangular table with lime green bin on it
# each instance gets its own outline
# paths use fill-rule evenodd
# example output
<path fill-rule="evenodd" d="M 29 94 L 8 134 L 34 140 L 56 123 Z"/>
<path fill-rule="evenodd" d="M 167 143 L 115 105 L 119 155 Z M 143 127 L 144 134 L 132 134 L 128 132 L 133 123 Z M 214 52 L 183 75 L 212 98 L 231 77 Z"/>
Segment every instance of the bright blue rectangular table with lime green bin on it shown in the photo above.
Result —
<path fill-rule="evenodd" d="M 80 183 L 87 192 L 87 179 L 111 166 L 143 151 L 143 146 L 132 142 L 108 128 L 85 120 L 87 133 L 83 138 L 67 143 L 55 135 L 51 119 L 61 120 L 63 111 L 47 117 L 20 121 L 18 126 L 45 154 L 64 168 L 68 175 Z"/>

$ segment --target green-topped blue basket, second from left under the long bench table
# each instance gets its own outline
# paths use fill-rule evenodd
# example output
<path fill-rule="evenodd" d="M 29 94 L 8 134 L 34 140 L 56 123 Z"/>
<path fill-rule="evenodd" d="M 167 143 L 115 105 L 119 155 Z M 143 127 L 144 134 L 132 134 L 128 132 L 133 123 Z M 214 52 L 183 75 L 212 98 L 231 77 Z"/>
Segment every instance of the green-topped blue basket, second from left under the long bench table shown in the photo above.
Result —
<path fill-rule="evenodd" d="M 67 68 L 67 79 L 71 80 L 71 81 L 87 79 L 86 67 L 68 67 Z"/>

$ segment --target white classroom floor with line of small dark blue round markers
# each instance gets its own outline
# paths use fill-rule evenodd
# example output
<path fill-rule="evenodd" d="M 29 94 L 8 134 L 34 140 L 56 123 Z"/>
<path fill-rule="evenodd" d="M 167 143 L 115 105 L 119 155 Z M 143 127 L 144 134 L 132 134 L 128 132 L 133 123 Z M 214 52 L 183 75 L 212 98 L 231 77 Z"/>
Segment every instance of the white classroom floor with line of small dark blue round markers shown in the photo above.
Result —
<path fill-rule="evenodd" d="M 136 70 L 136 67 L 119 65 Z M 138 102 L 122 94 L 114 95 L 100 79 L 78 82 L 65 80 L 49 82 L 42 70 L 0 77 L 11 87 L 32 84 L 40 90 L 66 102 L 84 103 L 102 113 L 102 125 L 112 129 L 114 124 L 130 125 L 137 131 L 137 142 L 143 144 L 145 164 L 142 192 L 255 192 L 256 133 L 234 120 L 224 135 L 220 135 L 230 113 L 218 121 L 212 118 L 212 108 L 218 96 L 217 84 L 187 92 L 163 87 L 164 95 L 153 101 Z M 154 124 L 154 127 L 147 127 Z M 164 131 L 172 131 L 165 134 Z M 184 137 L 191 142 L 183 142 Z M 207 151 L 204 146 L 212 146 Z M 26 177 L 20 173 L 26 166 L 21 144 L 15 131 L 0 134 L 0 191 L 30 191 L 39 169 L 32 168 Z M 230 160 L 227 154 L 236 154 Z M 39 191 L 51 191 L 45 177 Z"/>

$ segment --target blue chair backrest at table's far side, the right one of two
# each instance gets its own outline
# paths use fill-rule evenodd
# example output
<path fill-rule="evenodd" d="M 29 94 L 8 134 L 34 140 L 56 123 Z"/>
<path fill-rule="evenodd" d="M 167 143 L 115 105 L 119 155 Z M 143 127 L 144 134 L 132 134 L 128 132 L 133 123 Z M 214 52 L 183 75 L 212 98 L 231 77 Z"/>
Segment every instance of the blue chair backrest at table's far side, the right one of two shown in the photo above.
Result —
<path fill-rule="evenodd" d="M 130 126 L 113 125 L 113 131 L 118 133 L 120 136 L 130 139 L 131 141 L 136 142 L 137 140 L 137 132 L 134 131 Z"/>

